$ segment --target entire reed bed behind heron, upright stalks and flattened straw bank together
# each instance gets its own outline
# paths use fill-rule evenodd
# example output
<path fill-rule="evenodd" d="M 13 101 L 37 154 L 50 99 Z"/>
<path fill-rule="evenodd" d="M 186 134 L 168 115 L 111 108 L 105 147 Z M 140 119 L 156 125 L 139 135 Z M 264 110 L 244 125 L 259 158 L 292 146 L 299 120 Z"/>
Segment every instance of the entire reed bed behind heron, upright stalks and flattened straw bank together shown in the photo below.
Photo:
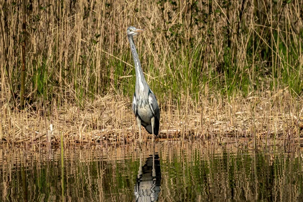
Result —
<path fill-rule="evenodd" d="M 135 44 L 160 104 L 160 139 L 299 143 L 302 4 L 2 2 L 1 142 L 135 141 L 134 25 L 145 29 Z"/>

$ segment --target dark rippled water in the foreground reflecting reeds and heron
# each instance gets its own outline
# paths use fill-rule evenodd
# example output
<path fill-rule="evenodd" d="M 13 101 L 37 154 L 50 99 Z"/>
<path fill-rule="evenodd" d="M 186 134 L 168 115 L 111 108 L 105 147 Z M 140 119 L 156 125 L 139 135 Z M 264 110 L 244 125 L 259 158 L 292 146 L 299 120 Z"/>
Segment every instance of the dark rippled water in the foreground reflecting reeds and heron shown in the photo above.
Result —
<path fill-rule="evenodd" d="M 0 150 L 0 201 L 302 201 L 301 148 L 157 142 Z"/>

